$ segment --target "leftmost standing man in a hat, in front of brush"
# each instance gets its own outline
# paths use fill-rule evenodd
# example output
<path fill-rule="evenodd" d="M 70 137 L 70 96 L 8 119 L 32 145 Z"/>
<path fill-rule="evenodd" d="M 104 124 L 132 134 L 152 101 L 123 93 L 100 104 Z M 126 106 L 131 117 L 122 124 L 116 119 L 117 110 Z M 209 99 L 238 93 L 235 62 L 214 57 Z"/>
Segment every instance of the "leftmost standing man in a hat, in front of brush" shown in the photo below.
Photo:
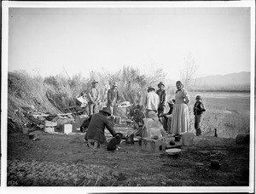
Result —
<path fill-rule="evenodd" d="M 100 93 L 97 89 L 98 82 L 93 81 L 91 83 L 91 88 L 88 93 L 88 106 L 89 106 L 89 116 L 99 112 L 99 104 L 100 104 Z"/>

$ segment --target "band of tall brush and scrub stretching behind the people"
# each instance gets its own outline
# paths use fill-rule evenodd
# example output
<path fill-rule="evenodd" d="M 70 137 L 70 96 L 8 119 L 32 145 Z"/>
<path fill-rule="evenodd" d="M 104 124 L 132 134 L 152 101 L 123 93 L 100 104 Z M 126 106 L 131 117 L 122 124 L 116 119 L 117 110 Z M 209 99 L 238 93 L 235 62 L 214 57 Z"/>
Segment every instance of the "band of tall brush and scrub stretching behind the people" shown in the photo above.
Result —
<path fill-rule="evenodd" d="M 144 105 L 148 86 L 157 89 L 160 81 L 165 81 L 166 73 L 157 69 L 151 75 L 143 75 L 137 68 L 124 66 L 115 73 L 91 71 L 90 77 L 81 74 L 73 77 L 61 75 L 50 77 L 32 77 L 26 71 L 13 71 L 8 74 L 8 117 L 12 118 L 20 127 L 27 123 L 22 117 L 23 112 L 62 113 L 68 106 L 75 104 L 75 99 L 81 93 L 89 91 L 91 82 L 99 82 L 98 89 L 102 101 L 107 101 L 107 91 L 113 82 L 118 83 L 120 100 L 131 104 Z M 186 88 L 189 91 L 189 88 Z M 168 100 L 174 98 L 176 88 L 166 84 Z M 189 93 L 190 129 L 195 132 L 193 106 L 195 93 Z M 249 132 L 249 117 L 236 112 L 227 113 L 224 107 L 206 105 L 203 113 L 202 134 L 214 134 L 218 128 L 219 136 L 235 138 L 238 133 Z"/>

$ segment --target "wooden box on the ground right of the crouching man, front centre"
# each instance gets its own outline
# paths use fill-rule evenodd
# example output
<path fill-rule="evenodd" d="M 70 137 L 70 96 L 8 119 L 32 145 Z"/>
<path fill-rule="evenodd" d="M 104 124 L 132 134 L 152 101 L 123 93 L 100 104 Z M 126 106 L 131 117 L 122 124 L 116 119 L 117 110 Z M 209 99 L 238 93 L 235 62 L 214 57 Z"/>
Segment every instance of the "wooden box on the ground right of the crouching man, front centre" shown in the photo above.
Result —
<path fill-rule="evenodd" d="M 142 139 L 142 150 L 150 152 L 159 152 L 166 150 L 166 140 L 165 138 L 160 138 L 158 140 L 153 140 L 149 138 Z"/>

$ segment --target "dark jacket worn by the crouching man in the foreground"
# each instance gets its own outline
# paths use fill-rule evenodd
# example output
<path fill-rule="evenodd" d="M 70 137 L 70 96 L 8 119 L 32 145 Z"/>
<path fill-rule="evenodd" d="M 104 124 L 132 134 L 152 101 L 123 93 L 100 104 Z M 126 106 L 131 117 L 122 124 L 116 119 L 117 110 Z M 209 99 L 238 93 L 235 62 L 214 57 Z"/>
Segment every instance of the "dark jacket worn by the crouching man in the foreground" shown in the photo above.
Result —
<path fill-rule="evenodd" d="M 91 121 L 84 140 L 98 140 L 101 144 L 106 142 L 104 134 L 105 127 L 113 136 L 116 134 L 108 118 L 102 114 L 102 112 L 96 113 L 91 117 Z"/>

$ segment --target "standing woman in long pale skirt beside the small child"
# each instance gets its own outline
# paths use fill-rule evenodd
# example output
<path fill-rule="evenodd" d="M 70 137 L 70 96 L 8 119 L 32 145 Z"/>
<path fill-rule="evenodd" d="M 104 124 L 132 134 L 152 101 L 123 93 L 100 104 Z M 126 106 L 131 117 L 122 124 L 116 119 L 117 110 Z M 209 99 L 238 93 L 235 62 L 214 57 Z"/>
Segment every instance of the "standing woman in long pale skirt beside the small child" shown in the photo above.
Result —
<path fill-rule="evenodd" d="M 182 134 L 189 132 L 189 94 L 183 83 L 177 81 L 175 104 L 172 110 L 171 134 Z"/>

